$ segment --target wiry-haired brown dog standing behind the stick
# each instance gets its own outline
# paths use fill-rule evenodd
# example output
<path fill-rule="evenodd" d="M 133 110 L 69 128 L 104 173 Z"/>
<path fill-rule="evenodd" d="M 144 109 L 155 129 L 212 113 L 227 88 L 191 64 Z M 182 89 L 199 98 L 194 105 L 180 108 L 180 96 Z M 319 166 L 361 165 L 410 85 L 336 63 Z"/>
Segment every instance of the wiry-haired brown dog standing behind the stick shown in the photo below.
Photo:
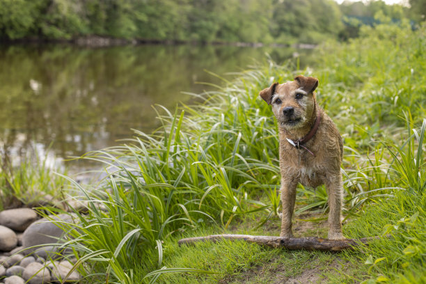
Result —
<path fill-rule="evenodd" d="M 260 92 L 272 106 L 280 139 L 281 237 L 292 237 L 296 187 L 326 185 L 329 194 L 329 239 L 344 239 L 340 223 L 342 207 L 342 138 L 333 121 L 318 106 L 314 90 L 318 79 L 297 76 L 274 83 Z"/>

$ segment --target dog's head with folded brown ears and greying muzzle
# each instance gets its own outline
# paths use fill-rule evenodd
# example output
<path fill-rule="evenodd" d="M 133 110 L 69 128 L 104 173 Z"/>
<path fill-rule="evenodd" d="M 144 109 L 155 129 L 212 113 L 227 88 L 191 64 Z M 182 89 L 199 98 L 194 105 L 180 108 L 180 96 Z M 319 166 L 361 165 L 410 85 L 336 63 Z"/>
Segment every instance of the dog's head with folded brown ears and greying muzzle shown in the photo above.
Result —
<path fill-rule="evenodd" d="M 271 104 L 272 111 L 283 129 L 297 129 L 310 122 L 315 111 L 315 95 L 318 79 L 297 76 L 294 81 L 284 84 L 274 83 L 262 90 L 259 95 Z"/>

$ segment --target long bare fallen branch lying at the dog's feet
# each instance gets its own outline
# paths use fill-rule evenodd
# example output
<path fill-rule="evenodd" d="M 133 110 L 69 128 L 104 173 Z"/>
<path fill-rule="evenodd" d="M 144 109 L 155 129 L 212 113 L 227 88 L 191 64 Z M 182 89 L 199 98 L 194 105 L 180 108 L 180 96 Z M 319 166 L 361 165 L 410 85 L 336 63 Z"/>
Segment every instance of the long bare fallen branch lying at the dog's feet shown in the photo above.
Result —
<path fill-rule="evenodd" d="M 207 237 L 189 237 L 180 239 L 178 244 L 191 245 L 196 242 L 219 242 L 223 239 L 243 240 L 250 243 L 271 246 L 274 248 L 287 248 L 290 250 L 306 251 L 342 251 L 353 249 L 355 246 L 368 245 L 368 242 L 380 237 L 363 237 L 361 239 L 322 239 L 321 237 L 274 237 L 252 235 L 210 235 Z"/>

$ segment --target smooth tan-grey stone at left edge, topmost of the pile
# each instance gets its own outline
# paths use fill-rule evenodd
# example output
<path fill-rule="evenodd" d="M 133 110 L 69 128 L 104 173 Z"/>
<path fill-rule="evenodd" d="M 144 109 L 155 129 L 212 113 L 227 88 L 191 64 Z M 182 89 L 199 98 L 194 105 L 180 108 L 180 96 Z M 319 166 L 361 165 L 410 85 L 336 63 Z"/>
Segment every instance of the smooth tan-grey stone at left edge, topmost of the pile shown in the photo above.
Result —
<path fill-rule="evenodd" d="M 0 225 L 18 232 L 24 232 L 36 220 L 37 213 L 30 208 L 16 208 L 0 212 Z"/>

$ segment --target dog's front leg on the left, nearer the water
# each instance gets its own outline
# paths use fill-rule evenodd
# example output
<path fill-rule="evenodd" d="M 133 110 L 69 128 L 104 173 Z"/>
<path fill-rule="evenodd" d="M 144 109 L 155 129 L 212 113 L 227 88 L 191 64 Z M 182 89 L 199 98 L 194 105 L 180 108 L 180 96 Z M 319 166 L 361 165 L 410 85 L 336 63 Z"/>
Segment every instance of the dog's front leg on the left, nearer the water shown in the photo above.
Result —
<path fill-rule="evenodd" d="M 281 180 L 281 203 L 283 206 L 283 216 L 281 220 L 281 237 L 293 237 L 292 216 L 294 202 L 296 201 L 297 182 Z"/>

